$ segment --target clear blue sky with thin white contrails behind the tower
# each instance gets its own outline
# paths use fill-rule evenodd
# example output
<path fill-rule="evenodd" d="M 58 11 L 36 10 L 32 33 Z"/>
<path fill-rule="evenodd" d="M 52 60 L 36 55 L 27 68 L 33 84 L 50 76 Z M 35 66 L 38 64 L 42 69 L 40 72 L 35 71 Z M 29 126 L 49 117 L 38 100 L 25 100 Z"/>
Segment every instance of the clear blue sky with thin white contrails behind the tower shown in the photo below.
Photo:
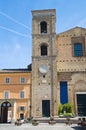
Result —
<path fill-rule="evenodd" d="M 86 28 L 86 0 L 0 0 L 0 69 L 31 63 L 31 11 L 41 9 L 56 9 L 57 34 Z"/>

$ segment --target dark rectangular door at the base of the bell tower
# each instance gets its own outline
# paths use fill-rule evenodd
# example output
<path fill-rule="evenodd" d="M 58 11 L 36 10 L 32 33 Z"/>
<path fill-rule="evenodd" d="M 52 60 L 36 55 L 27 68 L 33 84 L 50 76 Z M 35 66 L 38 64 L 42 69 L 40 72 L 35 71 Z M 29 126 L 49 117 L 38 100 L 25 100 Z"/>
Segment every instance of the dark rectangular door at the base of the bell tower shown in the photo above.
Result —
<path fill-rule="evenodd" d="M 42 100 L 42 116 L 50 117 L 50 100 Z"/>

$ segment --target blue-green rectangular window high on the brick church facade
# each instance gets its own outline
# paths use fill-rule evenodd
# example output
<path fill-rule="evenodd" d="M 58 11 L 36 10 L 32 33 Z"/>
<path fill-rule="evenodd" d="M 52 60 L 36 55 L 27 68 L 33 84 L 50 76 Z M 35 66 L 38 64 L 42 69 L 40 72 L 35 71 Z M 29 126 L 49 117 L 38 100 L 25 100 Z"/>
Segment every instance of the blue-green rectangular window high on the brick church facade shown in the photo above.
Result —
<path fill-rule="evenodd" d="M 74 43 L 74 56 L 83 56 L 82 43 Z"/>

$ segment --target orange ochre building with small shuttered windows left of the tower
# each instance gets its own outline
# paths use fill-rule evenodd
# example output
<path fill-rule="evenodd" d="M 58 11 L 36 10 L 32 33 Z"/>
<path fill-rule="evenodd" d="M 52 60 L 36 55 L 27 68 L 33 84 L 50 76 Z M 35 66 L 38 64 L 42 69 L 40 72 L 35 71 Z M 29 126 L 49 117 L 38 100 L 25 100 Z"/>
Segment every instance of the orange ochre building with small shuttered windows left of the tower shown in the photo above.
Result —
<path fill-rule="evenodd" d="M 30 116 L 30 78 L 28 69 L 0 71 L 0 122 Z"/>

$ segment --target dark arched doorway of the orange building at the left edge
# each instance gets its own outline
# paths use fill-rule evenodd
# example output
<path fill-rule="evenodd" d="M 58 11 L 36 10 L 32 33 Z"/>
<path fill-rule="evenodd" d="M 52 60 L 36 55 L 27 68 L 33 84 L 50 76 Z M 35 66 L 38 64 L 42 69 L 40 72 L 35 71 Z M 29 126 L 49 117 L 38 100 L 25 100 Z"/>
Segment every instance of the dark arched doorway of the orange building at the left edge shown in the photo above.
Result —
<path fill-rule="evenodd" d="M 10 102 L 3 102 L 1 105 L 1 122 L 7 123 L 9 118 L 9 108 L 11 108 Z M 11 114 L 11 113 L 10 113 Z"/>

